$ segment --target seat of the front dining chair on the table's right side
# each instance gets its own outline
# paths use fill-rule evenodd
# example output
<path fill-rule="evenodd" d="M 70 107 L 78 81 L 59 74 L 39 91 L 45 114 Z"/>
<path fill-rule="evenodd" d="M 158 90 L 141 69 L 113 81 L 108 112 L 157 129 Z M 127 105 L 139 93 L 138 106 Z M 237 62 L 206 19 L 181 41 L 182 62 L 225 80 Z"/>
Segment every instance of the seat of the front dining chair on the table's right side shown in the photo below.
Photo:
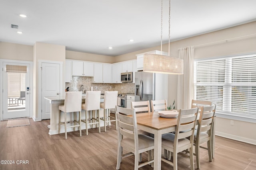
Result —
<path fill-rule="evenodd" d="M 173 133 L 166 133 L 162 135 L 162 147 L 170 148 L 173 150 L 174 138 L 175 138 L 175 134 Z M 178 147 L 183 147 L 188 144 L 190 144 L 189 139 L 183 138 L 178 140 Z"/>

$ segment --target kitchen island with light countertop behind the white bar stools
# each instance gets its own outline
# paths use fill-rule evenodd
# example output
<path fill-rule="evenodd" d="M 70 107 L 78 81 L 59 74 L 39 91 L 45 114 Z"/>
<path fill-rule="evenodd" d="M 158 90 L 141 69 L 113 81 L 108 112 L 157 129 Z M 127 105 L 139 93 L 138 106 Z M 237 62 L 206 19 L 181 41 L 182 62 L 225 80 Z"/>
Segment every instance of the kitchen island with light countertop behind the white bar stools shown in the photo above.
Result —
<path fill-rule="evenodd" d="M 85 95 L 82 96 L 82 103 L 85 102 Z M 45 100 L 48 100 L 50 102 L 50 125 L 49 127 L 49 135 L 55 135 L 58 134 L 58 128 L 59 128 L 59 105 L 63 105 L 65 101 L 65 96 L 56 96 L 56 97 L 45 97 Z M 100 102 L 104 102 L 104 96 L 100 97 Z M 94 112 L 93 112 L 94 113 Z M 100 109 L 100 117 L 103 117 L 104 109 Z M 78 114 L 76 114 L 76 120 L 78 120 Z M 91 119 L 91 114 L 89 114 L 89 119 Z M 81 119 L 85 119 L 85 111 L 82 110 L 81 112 Z M 68 113 L 67 114 L 67 121 L 74 120 L 73 114 Z M 64 116 L 61 117 L 61 121 L 64 121 Z M 73 123 L 72 123 L 73 124 Z M 100 126 L 104 127 L 104 122 L 100 122 Z M 88 128 L 94 128 L 94 126 L 90 125 Z M 82 123 L 82 130 L 86 129 L 85 123 Z M 76 127 L 76 130 L 78 130 L 78 127 Z M 72 127 L 67 128 L 67 132 L 74 131 Z M 60 133 L 65 133 L 64 126 L 60 126 Z M 82 134 L 84 134 L 82 132 Z"/>

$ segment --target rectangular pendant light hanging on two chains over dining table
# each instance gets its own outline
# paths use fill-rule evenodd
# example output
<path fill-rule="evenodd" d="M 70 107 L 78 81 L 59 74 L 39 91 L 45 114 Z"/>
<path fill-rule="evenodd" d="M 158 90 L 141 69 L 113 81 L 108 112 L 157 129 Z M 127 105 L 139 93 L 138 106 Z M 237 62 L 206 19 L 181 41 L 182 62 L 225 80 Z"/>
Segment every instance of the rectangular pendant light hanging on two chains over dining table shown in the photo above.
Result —
<path fill-rule="evenodd" d="M 163 0 L 161 0 L 161 54 L 162 54 L 162 18 Z M 170 15 L 171 1 L 169 0 L 169 56 L 158 54 L 144 54 L 143 71 L 163 74 L 183 74 L 183 60 L 170 57 Z"/>

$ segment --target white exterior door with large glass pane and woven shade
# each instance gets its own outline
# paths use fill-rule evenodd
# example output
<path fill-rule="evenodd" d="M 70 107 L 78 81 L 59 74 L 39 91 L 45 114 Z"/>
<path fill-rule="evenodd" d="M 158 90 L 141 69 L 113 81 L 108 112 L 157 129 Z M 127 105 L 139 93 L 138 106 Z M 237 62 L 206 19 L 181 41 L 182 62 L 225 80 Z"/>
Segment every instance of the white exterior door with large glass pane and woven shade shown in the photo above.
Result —
<path fill-rule="evenodd" d="M 3 119 L 30 117 L 30 64 L 3 62 Z"/>

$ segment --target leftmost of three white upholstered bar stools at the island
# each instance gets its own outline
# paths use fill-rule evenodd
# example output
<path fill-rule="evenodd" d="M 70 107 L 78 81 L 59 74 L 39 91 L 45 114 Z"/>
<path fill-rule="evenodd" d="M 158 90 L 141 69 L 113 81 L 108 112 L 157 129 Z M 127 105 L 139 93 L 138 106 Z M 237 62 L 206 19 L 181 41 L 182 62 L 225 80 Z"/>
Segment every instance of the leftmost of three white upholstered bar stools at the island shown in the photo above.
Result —
<path fill-rule="evenodd" d="M 80 127 L 80 122 L 81 122 L 81 105 L 82 105 L 82 92 L 66 92 L 65 96 L 65 101 L 64 105 L 60 105 L 59 108 L 59 131 L 58 133 L 60 134 L 60 125 L 65 125 L 65 139 L 67 139 L 67 128 L 68 127 L 73 127 L 74 131 L 75 128 L 78 127 L 80 130 L 80 136 L 82 136 L 82 131 Z M 61 121 L 61 113 L 64 112 L 64 122 Z M 72 121 L 68 120 L 67 121 L 67 113 L 74 112 L 73 119 Z M 75 112 L 79 112 L 79 120 L 77 121 L 75 119 L 76 115 Z M 73 122 L 73 125 L 67 126 L 67 123 Z M 78 123 L 75 125 L 75 123 Z"/>

